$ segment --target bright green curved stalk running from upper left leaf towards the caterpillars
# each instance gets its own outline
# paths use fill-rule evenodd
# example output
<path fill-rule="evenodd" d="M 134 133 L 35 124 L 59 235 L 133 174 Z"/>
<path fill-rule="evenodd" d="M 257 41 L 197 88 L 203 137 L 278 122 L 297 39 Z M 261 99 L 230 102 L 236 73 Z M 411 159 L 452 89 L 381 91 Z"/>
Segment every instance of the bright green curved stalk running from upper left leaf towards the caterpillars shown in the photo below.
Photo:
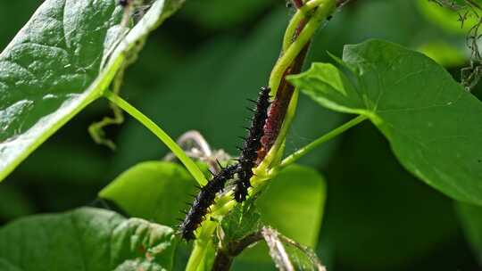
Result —
<path fill-rule="evenodd" d="M 206 185 L 207 180 L 204 177 L 203 172 L 201 169 L 197 167 L 195 162 L 187 157 L 186 152 L 184 152 L 178 144 L 161 127 L 154 123 L 153 120 L 147 118 L 141 111 L 138 111 L 137 108 L 132 106 L 130 103 L 126 102 L 119 95 L 114 94 L 108 90 L 104 92 L 104 97 L 109 99 L 112 103 L 119 106 L 123 111 L 126 111 L 130 116 L 134 119 L 137 119 L 142 125 L 144 125 L 147 129 L 149 129 L 155 136 L 161 139 L 162 143 L 166 144 L 166 146 L 170 149 L 170 152 L 174 153 L 179 160 L 184 164 L 187 168 L 189 173 L 193 177 L 199 185 Z"/>

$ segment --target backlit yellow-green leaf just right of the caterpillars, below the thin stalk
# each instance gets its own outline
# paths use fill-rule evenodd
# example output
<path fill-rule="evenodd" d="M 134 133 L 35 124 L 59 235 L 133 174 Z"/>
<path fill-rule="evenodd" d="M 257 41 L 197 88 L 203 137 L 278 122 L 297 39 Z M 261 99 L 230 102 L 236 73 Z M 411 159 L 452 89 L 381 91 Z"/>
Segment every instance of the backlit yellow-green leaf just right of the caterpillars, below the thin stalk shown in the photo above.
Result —
<path fill-rule="evenodd" d="M 320 234 L 325 197 L 324 177 L 313 168 L 293 165 L 272 179 L 268 191 L 256 202 L 265 224 L 314 248 Z"/>

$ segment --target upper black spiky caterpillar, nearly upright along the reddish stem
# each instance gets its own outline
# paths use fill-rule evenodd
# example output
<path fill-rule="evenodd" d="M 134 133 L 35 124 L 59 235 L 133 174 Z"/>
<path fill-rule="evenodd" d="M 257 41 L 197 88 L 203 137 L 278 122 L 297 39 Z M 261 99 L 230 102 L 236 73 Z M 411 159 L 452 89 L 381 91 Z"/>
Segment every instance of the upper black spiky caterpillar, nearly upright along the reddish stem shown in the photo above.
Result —
<path fill-rule="evenodd" d="M 264 123 L 268 118 L 270 107 L 270 88 L 263 86 L 258 99 L 252 101 L 256 104 L 251 119 L 251 127 L 247 128 L 247 136 L 244 138 L 243 147 L 238 158 L 237 181 L 235 182 L 234 198 L 237 202 L 245 201 L 247 190 L 251 186 L 249 180 L 253 177 L 253 168 L 256 166 L 258 150 L 261 148 L 261 139 L 264 135 Z"/>

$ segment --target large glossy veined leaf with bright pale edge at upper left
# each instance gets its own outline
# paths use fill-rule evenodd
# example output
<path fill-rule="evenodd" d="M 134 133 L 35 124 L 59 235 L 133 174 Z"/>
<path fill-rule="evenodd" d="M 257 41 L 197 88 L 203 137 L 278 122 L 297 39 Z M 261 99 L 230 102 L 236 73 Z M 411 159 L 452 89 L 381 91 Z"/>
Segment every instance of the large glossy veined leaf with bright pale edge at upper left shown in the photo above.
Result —
<path fill-rule="evenodd" d="M 157 0 L 129 31 L 114 0 L 48 0 L 0 54 L 0 180 L 109 86 L 182 0 Z"/>

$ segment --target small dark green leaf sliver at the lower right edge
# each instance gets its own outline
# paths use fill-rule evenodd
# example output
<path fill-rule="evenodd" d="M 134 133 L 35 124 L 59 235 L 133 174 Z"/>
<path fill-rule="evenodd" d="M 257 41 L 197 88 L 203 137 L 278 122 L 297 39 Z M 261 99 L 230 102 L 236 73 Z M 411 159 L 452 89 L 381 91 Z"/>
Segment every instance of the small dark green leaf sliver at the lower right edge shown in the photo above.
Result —
<path fill-rule="evenodd" d="M 482 207 L 458 203 L 457 210 L 465 236 L 477 255 L 478 262 L 482 263 Z"/>

